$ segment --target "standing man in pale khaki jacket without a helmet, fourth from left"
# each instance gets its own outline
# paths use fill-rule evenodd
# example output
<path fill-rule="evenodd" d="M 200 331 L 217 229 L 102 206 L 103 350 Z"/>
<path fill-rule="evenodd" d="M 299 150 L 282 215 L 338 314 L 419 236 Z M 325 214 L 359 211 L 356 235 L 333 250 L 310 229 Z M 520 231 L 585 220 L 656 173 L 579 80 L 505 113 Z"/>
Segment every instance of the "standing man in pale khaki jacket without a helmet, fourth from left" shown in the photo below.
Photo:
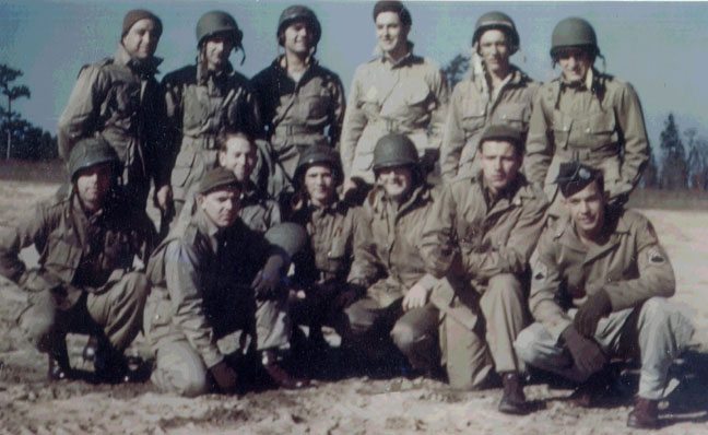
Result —
<path fill-rule="evenodd" d="M 344 190 L 373 184 L 374 145 L 388 133 L 405 134 L 424 172 L 439 156 L 448 89 L 437 64 L 413 55 L 411 13 L 400 1 L 374 7 L 379 56 L 356 69 L 342 131 Z"/>

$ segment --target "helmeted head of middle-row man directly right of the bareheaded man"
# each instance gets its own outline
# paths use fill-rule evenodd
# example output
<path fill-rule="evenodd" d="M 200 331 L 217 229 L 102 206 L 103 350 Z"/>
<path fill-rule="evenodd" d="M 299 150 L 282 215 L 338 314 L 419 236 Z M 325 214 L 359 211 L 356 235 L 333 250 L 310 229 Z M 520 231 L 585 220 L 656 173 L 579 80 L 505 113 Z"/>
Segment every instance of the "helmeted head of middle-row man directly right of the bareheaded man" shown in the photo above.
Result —
<path fill-rule="evenodd" d="M 302 192 L 312 204 L 330 205 L 337 199 L 342 184 L 342 162 L 339 153 L 326 145 L 305 149 L 297 161 L 293 177 L 296 192 Z"/>

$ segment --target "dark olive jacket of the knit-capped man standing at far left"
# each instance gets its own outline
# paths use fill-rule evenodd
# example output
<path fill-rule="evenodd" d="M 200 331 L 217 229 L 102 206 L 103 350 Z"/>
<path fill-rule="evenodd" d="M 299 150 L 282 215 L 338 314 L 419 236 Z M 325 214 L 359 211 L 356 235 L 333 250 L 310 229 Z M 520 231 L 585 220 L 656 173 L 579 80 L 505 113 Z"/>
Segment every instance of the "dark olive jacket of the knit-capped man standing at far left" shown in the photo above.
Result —
<path fill-rule="evenodd" d="M 169 183 L 162 148 L 165 111 L 154 79 L 161 61 L 140 62 L 119 46 L 113 58 L 81 69 L 59 118 L 59 155 L 68 161 L 79 140 L 101 134 L 125 166 L 123 183 L 134 187 L 142 201 L 151 178 L 156 186 Z"/>

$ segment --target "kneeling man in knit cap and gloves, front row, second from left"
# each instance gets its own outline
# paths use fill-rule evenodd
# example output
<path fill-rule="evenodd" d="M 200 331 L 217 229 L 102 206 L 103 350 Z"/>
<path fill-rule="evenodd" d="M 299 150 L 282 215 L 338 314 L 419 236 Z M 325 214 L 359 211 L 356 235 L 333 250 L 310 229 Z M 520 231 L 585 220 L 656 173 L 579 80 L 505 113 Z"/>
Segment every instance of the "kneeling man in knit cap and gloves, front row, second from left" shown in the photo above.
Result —
<path fill-rule="evenodd" d="M 262 366 L 278 385 L 307 386 L 278 361 L 291 332 L 280 280 L 294 246 L 275 246 L 238 219 L 244 189 L 232 171 L 212 169 L 199 186 L 197 212 L 176 225 L 148 268 L 153 290 L 144 329 L 156 353 L 153 383 L 165 391 L 198 396 L 211 389 L 211 377 L 221 391 L 234 391 L 237 373 L 216 340 L 243 330 L 256 336 Z M 273 238 L 293 228 L 271 230 L 279 231 Z"/>

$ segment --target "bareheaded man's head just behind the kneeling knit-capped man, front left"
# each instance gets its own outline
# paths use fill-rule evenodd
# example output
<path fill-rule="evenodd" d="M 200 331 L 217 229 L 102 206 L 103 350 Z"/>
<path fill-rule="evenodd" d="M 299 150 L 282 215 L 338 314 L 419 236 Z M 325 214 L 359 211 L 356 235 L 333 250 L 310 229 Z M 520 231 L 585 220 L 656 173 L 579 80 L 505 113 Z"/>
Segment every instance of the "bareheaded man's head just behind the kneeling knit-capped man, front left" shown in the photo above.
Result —
<path fill-rule="evenodd" d="M 216 137 L 216 145 L 219 165 L 233 172 L 240 183 L 247 183 L 258 163 L 251 137 L 243 131 L 225 130 Z"/>

